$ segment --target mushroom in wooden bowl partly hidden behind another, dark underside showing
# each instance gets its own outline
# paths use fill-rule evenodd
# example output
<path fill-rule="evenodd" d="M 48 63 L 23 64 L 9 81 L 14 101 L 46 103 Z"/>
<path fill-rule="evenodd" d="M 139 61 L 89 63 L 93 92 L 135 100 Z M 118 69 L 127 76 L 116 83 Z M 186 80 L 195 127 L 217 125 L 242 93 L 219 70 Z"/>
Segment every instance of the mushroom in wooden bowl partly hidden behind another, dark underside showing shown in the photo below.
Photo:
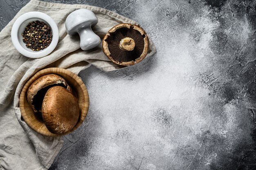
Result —
<path fill-rule="evenodd" d="M 47 74 L 34 81 L 27 91 L 27 101 L 33 108 L 34 112 L 40 112 L 45 93 L 50 87 L 60 85 L 72 92 L 67 82 L 56 74 Z"/>

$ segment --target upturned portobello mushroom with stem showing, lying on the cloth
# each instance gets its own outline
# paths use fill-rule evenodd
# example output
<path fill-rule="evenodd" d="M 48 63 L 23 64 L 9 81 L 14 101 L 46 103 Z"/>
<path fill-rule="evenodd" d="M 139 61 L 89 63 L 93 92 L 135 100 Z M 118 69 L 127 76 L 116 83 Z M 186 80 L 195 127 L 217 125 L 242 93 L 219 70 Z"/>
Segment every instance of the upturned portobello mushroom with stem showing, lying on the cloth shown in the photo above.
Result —
<path fill-rule="evenodd" d="M 140 26 L 123 23 L 108 31 L 103 38 L 102 48 L 113 63 L 135 65 L 148 54 L 149 40 Z"/>

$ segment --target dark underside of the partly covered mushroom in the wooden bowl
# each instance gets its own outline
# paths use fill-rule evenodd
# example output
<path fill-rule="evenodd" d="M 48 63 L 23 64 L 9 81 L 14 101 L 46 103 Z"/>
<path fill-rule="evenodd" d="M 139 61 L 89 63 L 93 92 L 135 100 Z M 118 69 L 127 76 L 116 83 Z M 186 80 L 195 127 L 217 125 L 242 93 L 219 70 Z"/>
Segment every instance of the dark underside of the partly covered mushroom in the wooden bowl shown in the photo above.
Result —
<path fill-rule="evenodd" d="M 32 105 L 34 105 L 35 109 L 39 110 L 39 112 L 41 112 L 42 110 L 42 103 L 43 103 L 43 99 L 45 97 L 46 92 L 48 91 L 49 88 L 54 86 L 61 86 L 61 87 L 67 88 L 67 85 L 64 85 L 63 83 L 59 83 L 59 84 L 48 85 L 45 88 L 40 89 L 34 96 L 33 102 L 32 102 Z"/>

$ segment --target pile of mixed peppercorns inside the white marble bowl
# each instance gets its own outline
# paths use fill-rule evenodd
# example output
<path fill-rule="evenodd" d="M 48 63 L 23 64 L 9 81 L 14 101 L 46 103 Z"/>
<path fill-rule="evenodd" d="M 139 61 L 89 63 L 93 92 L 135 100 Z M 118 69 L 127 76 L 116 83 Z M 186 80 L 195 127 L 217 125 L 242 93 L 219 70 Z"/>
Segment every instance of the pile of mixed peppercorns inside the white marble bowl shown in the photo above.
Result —
<path fill-rule="evenodd" d="M 47 48 L 52 42 L 52 30 L 44 22 L 36 20 L 27 25 L 22 37 L 27 48 L 40 51 Z"/>

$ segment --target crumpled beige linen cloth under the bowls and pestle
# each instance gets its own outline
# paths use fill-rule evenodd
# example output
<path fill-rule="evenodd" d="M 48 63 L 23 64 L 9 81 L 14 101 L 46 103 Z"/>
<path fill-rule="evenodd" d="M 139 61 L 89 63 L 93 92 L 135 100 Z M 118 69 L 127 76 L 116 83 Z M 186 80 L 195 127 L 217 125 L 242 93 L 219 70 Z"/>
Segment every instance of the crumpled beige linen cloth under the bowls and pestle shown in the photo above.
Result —
<path fill-rule="evenodd" d="M 90 9 L 99 19 L 93 28 L 101 38 L 119 23 L 137 24 L 117 13 L 77 4 L 56 4 L 31 0 L 0 32 L 0 169 L 4 170 L 45 170 L 51 166 L 63 145 L 62 137 L 47 137 L 38 134 L 23 121 L 19 108 L 19 94 L 30 76 L 40 69 L 61 67 L 78 74 L 82 69 L 94 65 L 103 71 L 123 68 L 115 65 L 105 56 L 98 45 L 92 50 L 80 49 L 79 36 L 68 36 L 65 18 L 76 9 Z M 11 27 L 14 21 L 29 11 L 46 13 L 58 25 L 59 41 L 54 51 L 46 57 L 32 59 L 22 56 L 11 42 Z M 149 38 L 150 40 L 150 38 Z M 150 40 L 150 51 L 155 53 Z M 143 61 L 142 61 L 143 62 Z"/>

